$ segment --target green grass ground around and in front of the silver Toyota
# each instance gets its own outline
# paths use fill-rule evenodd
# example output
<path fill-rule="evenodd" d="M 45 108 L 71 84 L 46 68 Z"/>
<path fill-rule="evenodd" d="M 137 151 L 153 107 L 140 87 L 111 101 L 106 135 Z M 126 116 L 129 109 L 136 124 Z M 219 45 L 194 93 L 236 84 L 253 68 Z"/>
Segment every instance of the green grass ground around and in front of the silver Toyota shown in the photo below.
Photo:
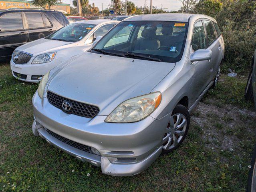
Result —
<path fill-rule="evenodd" d="M 252 109 L 243 99 L 245 78 L 222 76 L 223 82 L 203 98 L 205 105 L 226 109 Z M 255 135 L 244 134 L 243 127 L 227 128 L 195 109 L 196 118 L 207 124 L 191 121 L 187 138 L 181 147 L 160 156 L 147 170 L 131 177 L 113 177 L 101 173 L 101 168 L 80 162 L 50 146 L 31 130 L 33 112 L 31 100 L 37 84 L 23 83 L 12 77 L 10 67 L 0 65 L 0 190 L 2 191 L 172 191 L 172 192 L 241 192 L 245 191 L 248 165 Z M 232 117 L 219 118 L 226 124 Z M 248 116 L 240 116 L 244 127 L 255 128 Z M 208 140 L 205 130 L 216 127 L 218 132 L 239 140 L 235 151 Z M 208 139 L 206 139 L 208 138 Z M 232 146 L 233 147 L 233 146 Z"/>

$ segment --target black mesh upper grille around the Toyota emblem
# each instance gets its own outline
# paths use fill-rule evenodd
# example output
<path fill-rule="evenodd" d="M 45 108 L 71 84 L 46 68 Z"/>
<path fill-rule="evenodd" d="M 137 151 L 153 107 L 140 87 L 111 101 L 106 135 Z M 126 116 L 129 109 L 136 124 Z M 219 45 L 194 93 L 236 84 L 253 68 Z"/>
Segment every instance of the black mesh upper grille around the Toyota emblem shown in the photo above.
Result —
<path fill-rule="evenodd" d="M 63 110 L 62 103 L 64 101 L 69 102 L 71 104 L 71 110 L 69 113 L 71 114 L 87 118 L 94 118 L 99 113 L 99 108 L 97 106 L 70 100 L 68 98 L 54 94 L 50 91 L 47 92 L 47 98 L 50 104 L 61 110 Z M 65 110 L 63 111 L 66 112 Z"/>

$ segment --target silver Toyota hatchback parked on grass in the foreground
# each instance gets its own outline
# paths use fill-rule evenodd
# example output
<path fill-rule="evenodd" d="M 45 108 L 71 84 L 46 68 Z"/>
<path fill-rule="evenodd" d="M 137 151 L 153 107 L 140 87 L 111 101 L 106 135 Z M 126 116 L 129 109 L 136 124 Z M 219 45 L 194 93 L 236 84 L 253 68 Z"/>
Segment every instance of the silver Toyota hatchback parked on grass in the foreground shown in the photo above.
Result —
<path fill-rule="evenodd" d="M 223 58 L 212 17 L 131 16 L 44 75 L 33 133 L 104 174 L 138 174 L 181 145 Z"/>

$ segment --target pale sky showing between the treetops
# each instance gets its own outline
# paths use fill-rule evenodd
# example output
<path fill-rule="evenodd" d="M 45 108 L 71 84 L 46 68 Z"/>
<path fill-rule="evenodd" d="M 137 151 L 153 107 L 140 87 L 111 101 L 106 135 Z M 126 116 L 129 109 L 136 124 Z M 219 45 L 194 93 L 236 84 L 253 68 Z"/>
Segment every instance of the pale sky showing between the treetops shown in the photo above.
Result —
<path fill-rule="evenodd" d="M 68 3 L 72 5 L 73 0 L 62 0 L 62 3 Z M 102 9 L 103 4 L 103 10 L 105 8 L 108 8 L 111 0 L 89 0 L 89 3 L 95 3 L 95 6 L 99 7 L 99 9 Z M 145 0 L 131 0 L 135 4 L 135 6 L 143 6 L 145 4 Z M 178 0 L 152 0 L 152 6 L 155 6 L 157 8 L 161 8 L 161 4 L 163 4 L 163 10 L 168 11 L 177 11 L 181 7 L 181 2 Z M 150 0 L 146 0 L 146 6 L 150 6 Z"/>

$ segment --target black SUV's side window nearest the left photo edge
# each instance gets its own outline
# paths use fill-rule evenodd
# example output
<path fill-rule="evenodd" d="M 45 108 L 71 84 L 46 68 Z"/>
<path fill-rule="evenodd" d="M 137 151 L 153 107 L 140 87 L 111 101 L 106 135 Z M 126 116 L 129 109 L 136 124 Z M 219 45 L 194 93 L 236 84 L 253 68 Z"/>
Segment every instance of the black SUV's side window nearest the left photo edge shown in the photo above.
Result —
<path fill-rule="evenodd" d="M 20 13 L 5 14 L 0 18 L 1 31 L 23 29 L 22 17 Z"/>

